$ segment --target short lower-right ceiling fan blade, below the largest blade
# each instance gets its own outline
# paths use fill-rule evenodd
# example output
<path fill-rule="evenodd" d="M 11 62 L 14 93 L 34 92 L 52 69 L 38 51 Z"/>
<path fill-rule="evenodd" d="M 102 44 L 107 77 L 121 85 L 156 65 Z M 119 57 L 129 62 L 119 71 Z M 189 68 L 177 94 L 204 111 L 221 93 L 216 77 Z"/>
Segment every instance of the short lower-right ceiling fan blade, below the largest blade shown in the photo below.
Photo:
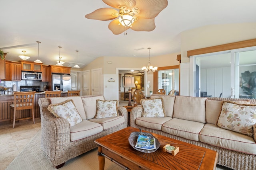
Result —
<path fill-rule="evenodd" d="M 155 18 L 143 19 L 140 18 L 132 24 L 131 29 L 134 31 L 153 31 L 156 28 Z"/>

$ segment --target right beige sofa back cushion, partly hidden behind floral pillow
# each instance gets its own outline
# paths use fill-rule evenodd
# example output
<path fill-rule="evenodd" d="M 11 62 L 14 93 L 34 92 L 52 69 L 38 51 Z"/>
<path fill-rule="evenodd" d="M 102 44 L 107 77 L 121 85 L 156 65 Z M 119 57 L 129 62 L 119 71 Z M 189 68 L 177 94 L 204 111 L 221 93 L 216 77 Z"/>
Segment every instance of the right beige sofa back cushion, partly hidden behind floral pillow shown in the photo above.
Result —
<path fill-rule="evenodd" d="M 223 100 L 208 100 L 206 99 L 205 111 L 206 111 L 206 123 L 217 124 L 220 111 L 222 108 Z M 238 104 L 250 104 L 250 100 L 232 100 Z"/>

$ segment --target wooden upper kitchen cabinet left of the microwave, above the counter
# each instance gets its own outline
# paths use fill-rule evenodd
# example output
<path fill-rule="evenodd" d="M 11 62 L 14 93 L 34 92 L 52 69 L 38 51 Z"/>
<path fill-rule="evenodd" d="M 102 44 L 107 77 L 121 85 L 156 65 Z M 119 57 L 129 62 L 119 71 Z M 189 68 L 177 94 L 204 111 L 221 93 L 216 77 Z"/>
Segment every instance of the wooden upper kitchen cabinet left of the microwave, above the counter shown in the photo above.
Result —
<path fill-rule="evenodd" d="M 21 81 L 21 64 L 12 61 L 5 62 L 4 81 Z"/>

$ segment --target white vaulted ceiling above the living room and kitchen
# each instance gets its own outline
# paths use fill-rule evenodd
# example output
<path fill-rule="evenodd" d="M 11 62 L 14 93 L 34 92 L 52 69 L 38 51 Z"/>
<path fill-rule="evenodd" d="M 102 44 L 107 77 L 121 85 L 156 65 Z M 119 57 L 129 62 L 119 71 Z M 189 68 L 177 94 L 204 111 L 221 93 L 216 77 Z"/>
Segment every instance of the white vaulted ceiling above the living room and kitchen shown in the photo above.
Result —
<path fill-rule="evenodd" d="M 168 0 L 168 6 L 155 18 L 153 31 L 128 29 L 114 35 L 110 21 L 89 20 L 84 16 L 98 8 L 109 8 L 102 0 L 2 0 L 0 10 L 0 49 L 7 60 L 18 55 L 64 66 L 82 68 L 97 57 L 150 57 L 180 52 L 180 33 L 212 24 L 256 22 L 255 0 Z M 234 35 L 235 36 L 235 35 Z"/>

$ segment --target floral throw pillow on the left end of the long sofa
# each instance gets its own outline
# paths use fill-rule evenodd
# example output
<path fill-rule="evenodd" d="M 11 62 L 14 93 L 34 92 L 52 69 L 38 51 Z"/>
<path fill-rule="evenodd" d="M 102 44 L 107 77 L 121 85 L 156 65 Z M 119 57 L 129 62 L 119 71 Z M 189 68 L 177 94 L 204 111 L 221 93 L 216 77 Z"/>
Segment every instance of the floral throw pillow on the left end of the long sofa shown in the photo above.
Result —
<path fill-rule="evenodd" d="M 162 98 L 142 99 L 143 117 L 166 117 L 163 109 Z"/>

